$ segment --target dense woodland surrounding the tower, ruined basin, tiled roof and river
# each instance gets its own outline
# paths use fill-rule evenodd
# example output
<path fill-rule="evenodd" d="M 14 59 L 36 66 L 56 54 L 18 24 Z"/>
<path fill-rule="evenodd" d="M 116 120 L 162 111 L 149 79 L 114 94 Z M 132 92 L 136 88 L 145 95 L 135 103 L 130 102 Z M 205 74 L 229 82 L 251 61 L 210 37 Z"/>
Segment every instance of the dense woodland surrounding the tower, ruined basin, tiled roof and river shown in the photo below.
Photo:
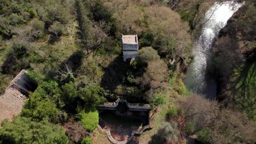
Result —
<path fill-rule="evenodd" d="M 183 83 L 216 1 L 0 0 L 0 92 L 22 69 L 37 86 L 20 115 L 2 121 L 0 143 L 110 143 L 97 105 L 118 98 L 153 107 L 153 129 L 131 143 L 255 143 L 254 0 L 214 46 L 218 100 Z M 133 63 L 123 61 L 122 34 L 138 34 Z"/>

